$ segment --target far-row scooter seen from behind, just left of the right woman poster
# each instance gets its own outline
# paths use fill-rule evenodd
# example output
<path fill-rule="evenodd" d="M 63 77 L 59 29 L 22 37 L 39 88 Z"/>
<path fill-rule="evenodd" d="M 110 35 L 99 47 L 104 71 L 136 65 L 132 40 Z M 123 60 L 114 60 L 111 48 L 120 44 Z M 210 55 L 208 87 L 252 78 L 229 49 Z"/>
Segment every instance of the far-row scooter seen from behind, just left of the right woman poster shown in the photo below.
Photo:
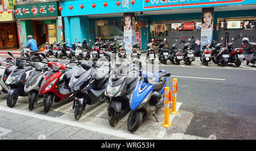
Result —
<path fill-rule="evenodd" d="M 196 58 L 194 57 L 194 50 L 191 48 L 191 46 L 189 46 L 192 42 L 191 42 L 191 38 L 188 39 L 188 42 L 185 42 L 185 40 L 181 40 L 180 44 L 184 45 L 183 48 L 183 61 L 185 62 L 185 64 L 190 65 L 193 61 L 196 60 Z"/>

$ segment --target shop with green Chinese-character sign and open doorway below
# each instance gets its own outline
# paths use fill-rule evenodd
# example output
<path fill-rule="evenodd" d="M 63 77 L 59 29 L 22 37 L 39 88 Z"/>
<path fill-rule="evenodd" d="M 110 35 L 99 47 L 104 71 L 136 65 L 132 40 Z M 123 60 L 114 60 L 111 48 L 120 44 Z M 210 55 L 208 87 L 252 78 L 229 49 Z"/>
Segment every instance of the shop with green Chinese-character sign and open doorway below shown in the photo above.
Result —
<path fill-rule="evenodd" d="M 15 6 L 22 45 L 27 44 L 28 35 L 34 37 L 38 46 L 63 38 L 62 22 L 59 25 L 58 20 L 58 6 L 56 1 Z"/>

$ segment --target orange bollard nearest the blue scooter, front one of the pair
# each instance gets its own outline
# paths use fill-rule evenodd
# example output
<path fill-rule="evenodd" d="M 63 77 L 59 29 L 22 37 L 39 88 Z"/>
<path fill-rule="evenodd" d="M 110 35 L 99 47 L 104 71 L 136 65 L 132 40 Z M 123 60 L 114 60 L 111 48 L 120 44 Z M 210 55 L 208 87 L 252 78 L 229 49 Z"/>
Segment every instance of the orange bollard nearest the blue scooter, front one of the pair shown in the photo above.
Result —
<path fill-rule="evenodd" d="M 169 102 L 171 101 L 170 98 L 170 88 L 164 88 L 164 123 L 162 124 L 163 127 L 172 127 L 172 124 L 169 123 Z"/>

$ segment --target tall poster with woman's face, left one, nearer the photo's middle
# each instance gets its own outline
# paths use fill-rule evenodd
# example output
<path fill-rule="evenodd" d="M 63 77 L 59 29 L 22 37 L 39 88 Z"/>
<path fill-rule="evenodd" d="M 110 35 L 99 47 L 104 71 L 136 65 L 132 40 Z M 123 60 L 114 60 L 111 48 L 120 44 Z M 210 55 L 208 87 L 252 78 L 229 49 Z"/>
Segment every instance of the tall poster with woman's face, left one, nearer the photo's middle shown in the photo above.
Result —
<path fill-rule="evenodd" d="M 135 14 L 125 13 L 123 15 L 123 33 L 125 34 L 125 49 L 126 53 L 131 53 L 133 44 L 136 42 L 135 35 Z"/>

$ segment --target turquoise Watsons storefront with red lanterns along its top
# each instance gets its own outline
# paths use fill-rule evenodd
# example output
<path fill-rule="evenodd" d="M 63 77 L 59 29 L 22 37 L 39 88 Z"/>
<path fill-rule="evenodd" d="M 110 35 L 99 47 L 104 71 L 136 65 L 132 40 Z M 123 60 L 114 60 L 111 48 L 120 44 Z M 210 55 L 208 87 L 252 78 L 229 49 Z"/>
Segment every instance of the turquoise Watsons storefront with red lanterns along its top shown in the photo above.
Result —
<path fill-rule="evenodd" d="M 107 3 L 107 5 L 106 5 Z M 213 8 L 211 29 L 208 30 L 210 40 L 216 40 L 218 18 L 239 18 L 250 13 L 256 16 L 255 2 L 250 0 L 198 0 L 198 1 L 162 1 L 162 0 L 121 0 L 121 1 L 62 1 L 61 16 L 64 18 L 65 37 L 69 41 L 119 40 L 134 38 L 146 49 L 152 38 L 168 43 L 175 38 L 192 41 L 201 40 L 203 22 L 202 7 Z M 239 6 L 239 11 L 237 6 Z M 164 11 L 163 11 L 164 10 Z M 122 34 L 121 24 L 126 13 L 135 14 L 135 34 L 127 37 Z M 223 17 L 222 17 L 223 16 Z M 225 16 L 225 17 L 224 17 Z M 125 28 L 124 25 L 122 27 Z M 206 36 L 203 36 L 206 37 Z M 207 39 L 207 38 L 206 38 Z"/>

